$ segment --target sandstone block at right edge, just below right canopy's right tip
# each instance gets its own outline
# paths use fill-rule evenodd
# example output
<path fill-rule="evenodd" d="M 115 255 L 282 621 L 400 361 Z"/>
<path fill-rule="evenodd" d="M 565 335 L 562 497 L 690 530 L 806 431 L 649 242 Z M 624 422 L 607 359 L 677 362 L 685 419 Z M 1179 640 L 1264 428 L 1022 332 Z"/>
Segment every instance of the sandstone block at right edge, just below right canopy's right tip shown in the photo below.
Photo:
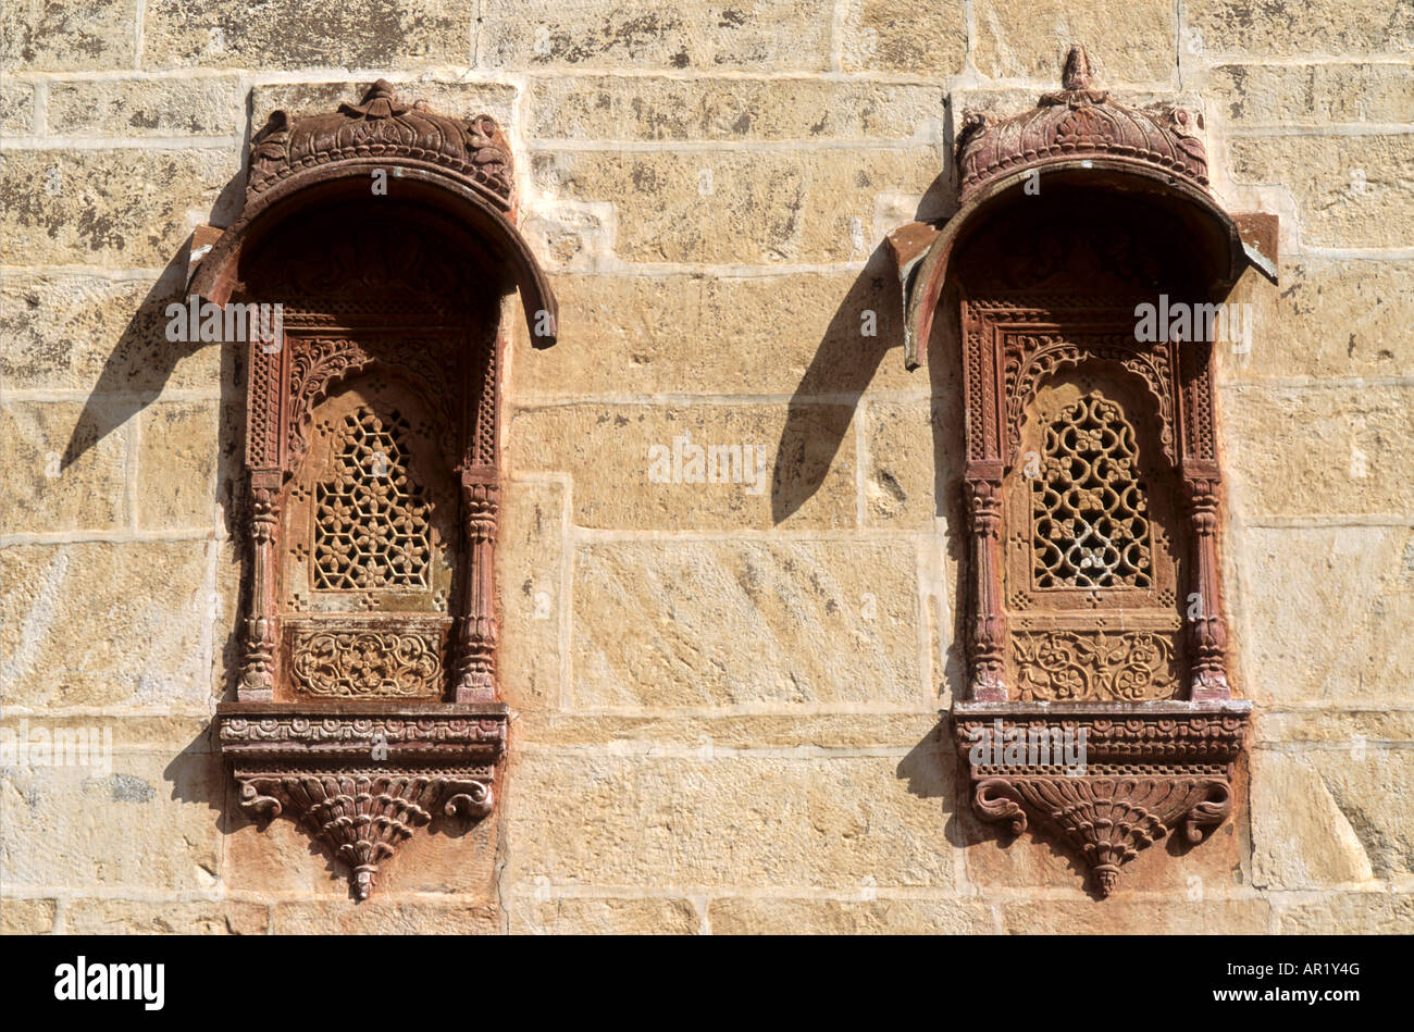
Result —
<path fill-rule="evenodd" d="M 1250 269 L 1227 301 L 1250 305 L 1253 332 L 1219 342 L 1219 383 L 1414 373 L 1407 262 L 1282 262 L 1280 290 Z"/>

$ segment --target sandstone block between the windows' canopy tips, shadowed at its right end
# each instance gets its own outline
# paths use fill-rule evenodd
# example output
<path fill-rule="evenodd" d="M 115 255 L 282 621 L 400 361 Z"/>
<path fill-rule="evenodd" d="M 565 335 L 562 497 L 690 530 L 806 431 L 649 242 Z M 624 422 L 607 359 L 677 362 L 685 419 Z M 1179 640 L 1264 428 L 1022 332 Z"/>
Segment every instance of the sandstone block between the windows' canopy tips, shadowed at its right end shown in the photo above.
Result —
<path fill-rule="evenodd" d="M 518 319 L 520 396 L 928 392 L 904 369 L 892 276 L 802 273 L 554 277 L 575 348 L 533 351 Z M 874 335 L 868 335 L 874 331 Z"/>

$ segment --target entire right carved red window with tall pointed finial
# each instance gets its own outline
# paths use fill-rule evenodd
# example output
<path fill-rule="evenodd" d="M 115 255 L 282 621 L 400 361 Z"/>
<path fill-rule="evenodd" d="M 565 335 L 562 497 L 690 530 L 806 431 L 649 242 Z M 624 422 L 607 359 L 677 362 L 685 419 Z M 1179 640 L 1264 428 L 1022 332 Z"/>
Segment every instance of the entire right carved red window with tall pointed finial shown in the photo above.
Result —
<path fill-rule="evenodd" d="M 953 718 L 973 809 L 1048 826 L 1100 896 L 1178 824 L 1196 843 L 1225 820 L 1251 708 L 1227 670 L 1212 339 L 1137 327 L 1144 304 L 1210 312 L 1247 264 L 1275 278 L 1275 216 L 1217 205 L 1200 127 L 1116 103 L 1075 48 L 1035 110 L 966 115 L 956 215 L 889 238 L 911 368 L 957 304 L 970 556 Z M 1083 741 L 1082 766 L 974 748 L 998 727 Z"/>

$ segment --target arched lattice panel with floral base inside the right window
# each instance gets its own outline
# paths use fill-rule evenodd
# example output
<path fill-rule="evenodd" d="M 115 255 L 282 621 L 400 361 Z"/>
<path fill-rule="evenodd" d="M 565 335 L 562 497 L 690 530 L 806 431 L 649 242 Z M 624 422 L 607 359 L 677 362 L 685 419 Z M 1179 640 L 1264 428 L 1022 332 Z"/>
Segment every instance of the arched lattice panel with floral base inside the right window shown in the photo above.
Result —
<path fill-rule="evenodd" d="M 1046 346 L 1063 338 L 1038 349 L 1042 362 Z M 1128 380 L 1092 359 L 1052 373 L 1018 410 L 1001 573 L 1005 681 L 1021 701 L 1182 694 L 1179 478 L 1157 420 L 1143 418 L 1152 396 Z"/>

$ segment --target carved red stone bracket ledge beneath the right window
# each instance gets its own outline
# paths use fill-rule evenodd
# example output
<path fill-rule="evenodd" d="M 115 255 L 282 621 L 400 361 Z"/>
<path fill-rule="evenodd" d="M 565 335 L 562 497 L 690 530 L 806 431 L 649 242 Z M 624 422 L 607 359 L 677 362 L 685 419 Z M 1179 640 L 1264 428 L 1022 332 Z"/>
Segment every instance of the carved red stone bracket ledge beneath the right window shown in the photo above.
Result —
<path fill-rule="evenodd" d="M 1012 835 L 1035 820 L 1090 869 L 1102 898 L 1140 850 L 1189 843 L 1232 810 L 1251 703 L 957 703 L 971 806 Z"/>

